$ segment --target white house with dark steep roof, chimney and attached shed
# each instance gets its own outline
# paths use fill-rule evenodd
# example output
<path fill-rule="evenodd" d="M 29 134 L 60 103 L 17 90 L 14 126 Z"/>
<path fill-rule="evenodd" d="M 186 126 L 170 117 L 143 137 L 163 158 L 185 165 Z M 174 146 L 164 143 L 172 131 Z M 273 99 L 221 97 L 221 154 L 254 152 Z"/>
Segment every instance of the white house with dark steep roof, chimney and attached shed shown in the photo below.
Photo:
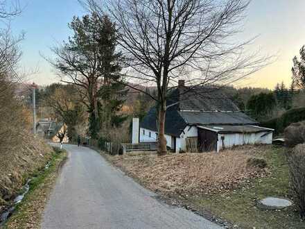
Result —
<path fill-rule="evenodd" d="M 247 116 L 212 87 L 184 86 L 179 80 L 178 87 L 168 94 L 165 134 L 168 148 L 175 152 L 186 151 L 194 142 L 196 149 L 220 151 L 243 144 L 271 144 L 270 128 Z M 157 141 L 156 109 L 151 108 L 139 123 L 132 122 L 132 143 Z"/>

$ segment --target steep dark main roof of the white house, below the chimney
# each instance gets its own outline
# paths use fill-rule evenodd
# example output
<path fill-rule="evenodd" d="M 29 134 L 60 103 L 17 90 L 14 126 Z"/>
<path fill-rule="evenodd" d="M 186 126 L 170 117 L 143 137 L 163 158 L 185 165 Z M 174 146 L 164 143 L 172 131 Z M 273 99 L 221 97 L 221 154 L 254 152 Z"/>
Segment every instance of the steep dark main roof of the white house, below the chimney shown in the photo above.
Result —
<path fill-rule="evenodd" d="M 241 112 L 219 90 L 199 87 L 176 88 L 168 94 L 165 133 L 179 137 L 187 125 L 256 125 L 257 121 Z M 156 109 L 151 108 L 141 128 L 157 131 Z"/>

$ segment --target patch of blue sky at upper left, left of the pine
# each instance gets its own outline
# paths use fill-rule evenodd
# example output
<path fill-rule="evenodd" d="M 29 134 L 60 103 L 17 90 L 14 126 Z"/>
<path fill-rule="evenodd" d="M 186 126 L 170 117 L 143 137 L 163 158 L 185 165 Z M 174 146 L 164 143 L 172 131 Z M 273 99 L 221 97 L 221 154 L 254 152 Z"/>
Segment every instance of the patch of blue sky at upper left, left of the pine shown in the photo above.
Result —
<path fill-rule="evenodd" d="M 29 81 L 47 85 L 58 81 L 53 69 L 44 58 L 52 55 L 50 48 L 57 42 L 67 40 L 71 31 L 67 24 L 74 15 L 83 15 L 85 10 L 77 0 L 22 0 L 25 8 L 19 17 L 11 22 L 15 35 L 21 31 L 26 33 L 25 40 L 21 42 L 23 57 L 21 65 L 26 69 L 36 69 L 39 73 L 29 77 Z"/>

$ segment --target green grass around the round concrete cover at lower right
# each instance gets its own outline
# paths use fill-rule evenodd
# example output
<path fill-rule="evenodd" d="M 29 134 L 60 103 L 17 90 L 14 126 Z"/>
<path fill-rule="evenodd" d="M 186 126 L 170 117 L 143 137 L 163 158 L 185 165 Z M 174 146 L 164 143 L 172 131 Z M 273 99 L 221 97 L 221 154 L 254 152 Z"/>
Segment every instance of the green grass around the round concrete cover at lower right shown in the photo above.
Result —
<path fill-rule="evenodd" d="M 289 191 L 288 164 L 284 149 L 272 148 L 261 154 L 271 175 L 254 178 L 246 187 L 230 192 L 190 196 L 188 201 L 217 217 L 227 219 L 238 228 L 305 228 L 295 207 L 285 210 L 259 210 L 256 200 L 267 196 L 293 198 Z"/>

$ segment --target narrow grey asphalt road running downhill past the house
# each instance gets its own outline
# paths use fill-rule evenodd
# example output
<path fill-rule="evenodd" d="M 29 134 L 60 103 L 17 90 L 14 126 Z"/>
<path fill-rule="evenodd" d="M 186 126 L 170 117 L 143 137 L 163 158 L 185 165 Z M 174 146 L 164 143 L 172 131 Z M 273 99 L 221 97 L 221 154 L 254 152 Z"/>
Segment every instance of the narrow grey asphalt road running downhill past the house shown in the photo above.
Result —
<path fill-rule="evenodd" d="M 157 201 L 105 159 L 65 145 L 69 160 L 44 211 L 42 228 L 220 228 L 188 210 Z"/>

